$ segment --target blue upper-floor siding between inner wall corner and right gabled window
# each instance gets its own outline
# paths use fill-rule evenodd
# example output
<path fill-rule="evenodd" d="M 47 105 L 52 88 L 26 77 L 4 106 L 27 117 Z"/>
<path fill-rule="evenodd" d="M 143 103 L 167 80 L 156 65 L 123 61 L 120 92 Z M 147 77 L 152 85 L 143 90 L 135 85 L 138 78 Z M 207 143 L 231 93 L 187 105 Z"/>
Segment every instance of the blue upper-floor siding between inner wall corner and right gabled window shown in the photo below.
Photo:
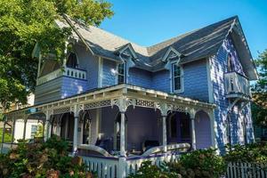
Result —
<path fill-rule="evenodd" d="M 152 88 L 154 90 L 171 93 L 169 70 L 161 70 L 153 73 Z"/>

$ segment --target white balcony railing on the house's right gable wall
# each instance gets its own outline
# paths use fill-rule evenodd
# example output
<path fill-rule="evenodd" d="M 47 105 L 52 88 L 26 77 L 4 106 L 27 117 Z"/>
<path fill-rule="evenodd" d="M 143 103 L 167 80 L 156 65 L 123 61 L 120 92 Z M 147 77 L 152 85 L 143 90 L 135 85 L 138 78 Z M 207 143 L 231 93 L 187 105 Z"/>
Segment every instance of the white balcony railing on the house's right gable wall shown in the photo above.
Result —
<path fill-rule="evenodd" d="M 249 81 L 246 77 L 239 75 L 237 72 L 224 74 L 225 94 L 228 97 L 233 97 L 233 94 L 241 94 L 251 96 Z"/>

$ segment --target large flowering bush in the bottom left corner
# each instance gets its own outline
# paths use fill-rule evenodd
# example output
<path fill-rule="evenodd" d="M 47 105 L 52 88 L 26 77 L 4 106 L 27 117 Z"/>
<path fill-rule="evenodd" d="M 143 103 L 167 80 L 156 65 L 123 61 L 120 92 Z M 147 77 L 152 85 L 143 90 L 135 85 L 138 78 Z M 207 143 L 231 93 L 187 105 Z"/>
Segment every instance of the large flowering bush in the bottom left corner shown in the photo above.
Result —
<path fill-rule="evenodd" d="M 93 177 L 85 171 L 81 158 L 68 156 L 68 142 L 53 136 L 47 142 L 27 144 L 0 155 L 0 177 Z"/>

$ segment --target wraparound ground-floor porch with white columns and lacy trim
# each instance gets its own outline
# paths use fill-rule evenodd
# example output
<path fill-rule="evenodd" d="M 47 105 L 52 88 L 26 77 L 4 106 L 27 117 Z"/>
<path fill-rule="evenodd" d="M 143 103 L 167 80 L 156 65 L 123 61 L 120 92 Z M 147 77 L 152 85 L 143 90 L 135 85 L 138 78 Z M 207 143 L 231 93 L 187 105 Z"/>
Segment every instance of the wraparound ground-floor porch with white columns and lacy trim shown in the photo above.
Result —
<path fill-rule="evenodd" d="M 6 121 L 23 119 L 25 125 L 29 118 L 42 120 L 44 140 L 53 134 L 69 140 L 71 154 L 83 157 L 101 177 L 125 177 L 145 160 L 159 164 L 190 149 L 214 146 L 214 105 L 134 85 L 98 89 L 5 116 Z"/>

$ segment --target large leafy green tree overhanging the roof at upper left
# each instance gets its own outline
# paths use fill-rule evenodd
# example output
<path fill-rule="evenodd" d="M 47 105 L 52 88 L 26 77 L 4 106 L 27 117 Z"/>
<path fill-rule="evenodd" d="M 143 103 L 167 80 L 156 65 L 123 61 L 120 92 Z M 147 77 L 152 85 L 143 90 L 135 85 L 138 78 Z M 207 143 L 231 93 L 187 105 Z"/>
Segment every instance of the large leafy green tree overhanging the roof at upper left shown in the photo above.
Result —
<path fill-rule="evenodd" d="M 63 14 L 85 25 L 99 26 L 113 15 L 102 0 L 1 0 L 0 1 L 0 103 L 26 103 L 35 89 L 38 60 L 31 57 L 36 42 L 42 55 L 65 57 L 65 41 L 71 29 L 58 28 L 54 20 Z"/>

